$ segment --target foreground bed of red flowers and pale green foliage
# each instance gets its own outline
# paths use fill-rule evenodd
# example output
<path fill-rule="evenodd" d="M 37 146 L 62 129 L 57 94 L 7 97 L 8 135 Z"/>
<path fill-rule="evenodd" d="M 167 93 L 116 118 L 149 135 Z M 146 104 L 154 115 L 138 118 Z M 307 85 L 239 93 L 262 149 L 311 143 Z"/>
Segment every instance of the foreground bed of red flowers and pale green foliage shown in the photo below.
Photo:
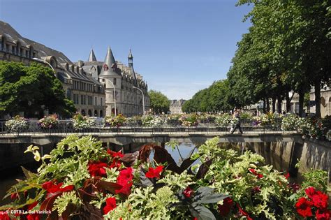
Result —
<path fill-rule="evenodd" d="M 304 174 L 299 186 L 288 173 L 263 165 L 258 154 L 217 146 L 208 140 L 177 166 L 157 145 L 122 154 L 84 136 L 68 136 L 44 155 L 38 173 L 24 169 L 0 207 L 0 219 L 328 219 L 327 173 Z M 174 144 L 175 145 L 175 144 Z M 176 147 L 174 147 L 175 149 Z M 149 154 L 154 152 L 153 161 Z M 64 156 L 66 155 L 66 156 Z M 199 160 L 196 165 L 192 164 Z M 23 212 L 24 211 L 24 212 Z M 49 211 L 38 214 L 37 211 Z"/>

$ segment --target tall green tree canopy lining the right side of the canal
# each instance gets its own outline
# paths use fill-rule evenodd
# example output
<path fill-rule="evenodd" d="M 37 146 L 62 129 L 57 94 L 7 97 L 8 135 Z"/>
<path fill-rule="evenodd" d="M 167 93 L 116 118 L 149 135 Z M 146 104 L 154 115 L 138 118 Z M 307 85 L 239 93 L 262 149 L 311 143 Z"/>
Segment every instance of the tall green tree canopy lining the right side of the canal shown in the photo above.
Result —
<path fill-rule="evenodd" d="M 294 91 L 302 115 L 304 94 L 314 86 L 316 115 L 321 116 L 321 87 L 331 78 L 330 0 L 239 0 L 237 6 L 250 3 L 252 10 L 244 20 L 251 27 L 237 44 L 227 88 L 216 89 L 214 96 L 214 84 L 198 91 L 183 110 L 214 111 L 264 101 L 269 111 L 271 100 L 272 111 L 276 101 L 280 111 L 286 100 L 290 111 L 289 92 Z"/>

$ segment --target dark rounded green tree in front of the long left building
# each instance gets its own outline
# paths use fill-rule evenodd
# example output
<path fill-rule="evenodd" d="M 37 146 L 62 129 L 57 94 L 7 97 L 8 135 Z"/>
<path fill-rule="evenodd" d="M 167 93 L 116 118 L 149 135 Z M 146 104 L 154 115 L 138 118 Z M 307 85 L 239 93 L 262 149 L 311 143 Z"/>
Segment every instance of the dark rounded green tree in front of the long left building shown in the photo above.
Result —
<path fill-rule="evenodd" d="M 53 71 L 35 63 L 0 62 L 0 100 L 2 114 L 24 112 L 26 117 L 42 117 L 48 109 L 68 117 L 75 112 Z"/>

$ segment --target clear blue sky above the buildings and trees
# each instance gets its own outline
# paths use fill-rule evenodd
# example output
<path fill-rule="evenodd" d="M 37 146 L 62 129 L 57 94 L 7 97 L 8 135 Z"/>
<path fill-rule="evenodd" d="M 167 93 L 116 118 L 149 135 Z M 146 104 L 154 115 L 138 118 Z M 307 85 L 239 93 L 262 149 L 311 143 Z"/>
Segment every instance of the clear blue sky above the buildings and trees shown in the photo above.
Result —
<path fill-rule="evenodd" d="M 117 61 L 133 66 L 148 88 L 189 99 L 226 78 L 250 6 L 235 0 L 0 0 L 0 20 L 24 38 L 87 61 L 110 45 Z"/>

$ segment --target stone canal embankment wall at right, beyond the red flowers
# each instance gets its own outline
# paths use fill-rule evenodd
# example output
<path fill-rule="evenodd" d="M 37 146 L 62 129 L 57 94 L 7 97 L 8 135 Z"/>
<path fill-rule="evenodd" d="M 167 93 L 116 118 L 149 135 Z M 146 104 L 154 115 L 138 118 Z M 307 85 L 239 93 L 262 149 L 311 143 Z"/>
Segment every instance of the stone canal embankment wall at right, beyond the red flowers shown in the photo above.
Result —
<path fill-rule="evenodd" d="M 224 146 L 225 147 L 225 146 Z M 232 143 L 227 148 L 237 150 L 251 150 L 265 158 L 266 164 L 271 164 L 275 169 L 286 171 L 297 181 L 303 180 L 302 173 L 314 170 L 328 172 L 331 184 L 331 143 L 320 140 L 303 139 L 298 142 L 245 142 Z M 300 161 L 300 167 L 295 165 Z"/>

